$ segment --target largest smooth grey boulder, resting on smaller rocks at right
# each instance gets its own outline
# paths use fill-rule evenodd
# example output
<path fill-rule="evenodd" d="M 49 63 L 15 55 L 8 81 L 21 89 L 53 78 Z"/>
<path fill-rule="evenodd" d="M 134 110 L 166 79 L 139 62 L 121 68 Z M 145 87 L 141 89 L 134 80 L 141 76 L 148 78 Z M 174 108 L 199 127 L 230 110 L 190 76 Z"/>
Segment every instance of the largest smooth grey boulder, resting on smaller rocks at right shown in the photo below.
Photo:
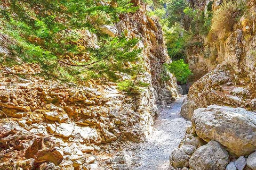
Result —
<path fill-rule="evenodd" d="M 256 113 L 244 108 L 211 105 L 198 108 L 192 118 L 197 135 L 205 141 L 215 140 L 237 156 L 256 149 Z"/>

